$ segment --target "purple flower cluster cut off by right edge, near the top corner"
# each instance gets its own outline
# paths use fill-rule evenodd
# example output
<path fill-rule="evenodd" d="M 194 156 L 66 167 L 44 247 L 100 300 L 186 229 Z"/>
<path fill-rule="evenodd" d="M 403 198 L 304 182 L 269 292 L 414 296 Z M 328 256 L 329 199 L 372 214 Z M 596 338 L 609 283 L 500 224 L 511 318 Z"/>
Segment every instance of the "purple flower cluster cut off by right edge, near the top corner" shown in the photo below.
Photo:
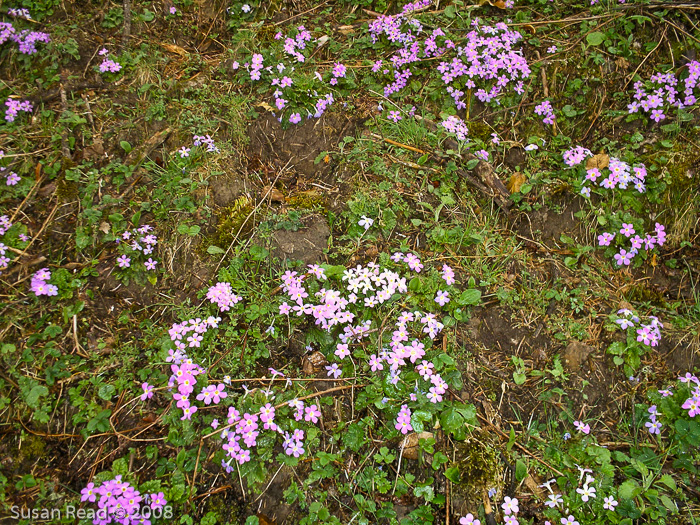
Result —
<path fill-rule="evenodd" d="M 698 101 L 695 88 L 700 80 L 700 62 L 693 60 L 687 64 L 687 68 L 689 74 L 683 81 L 682 96 L 679 80 L 673 73 L 656 73 L 646 84 L 641 80 L 634 83 L 634 102 L 627 106 L 628 111 L 638 113 L 641 109 L 649 113 L 649 118 L 654 122 L 661 122 L 666 118 L 664 111 L 669 107 L 681 109 L 694 106 Z"/>

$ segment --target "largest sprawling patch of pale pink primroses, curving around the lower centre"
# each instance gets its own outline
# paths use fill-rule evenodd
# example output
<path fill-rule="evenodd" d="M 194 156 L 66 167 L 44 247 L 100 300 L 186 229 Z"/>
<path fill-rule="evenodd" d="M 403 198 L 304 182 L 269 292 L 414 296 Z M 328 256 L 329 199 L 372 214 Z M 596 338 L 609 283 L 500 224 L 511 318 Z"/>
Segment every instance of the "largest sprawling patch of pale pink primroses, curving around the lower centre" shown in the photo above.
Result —
<path fill-rule="evenodd" d="M 417 424 L 423 428 L 422 422 L 413 419 L 414 411 L 423 407 L 423 417 L 438 411 L 449 388 L 447 381 L 458 381 L 454 369 L 446 365 L 451 360 L 447 356 L 436 359 L 442 345 L 433 347 L 444 328 L 437 312 L 451 301 L 455 274 L 448 265 L 439 272 L 433 270 L 432 287 L 420 294 L 420 281 L 411 275 L 424 274 L 425 268 L 416 255 L 397 252 L 386 261 L 388 267 L 377 263 L 355 268 L 309 265 L 306 273 L 287 271 L 281 278 L 284 298 L 276 308 L 277 320 L 273 319 L 265 332 L 272 336 L 275 325 L 283 330 L 310 323 L 325 333 L 326 343 L 319 351 L 331 364 L 319 373 L 341 384 L 369 374 L 372 386 L 361 386 L 377 390 L 381 403 L 375 406 L 387 413 L 396 434 L 404 435 Z M 407 270 L 408 276 L 392 269 L 397 266 Z M 244 311 L 245 298 L 236 295 L 228 282 L 210 287 L 206 297 L 216 305 L 217 313 L 227 313 L 234 324 Z M 423 308 L 418 306 L 421 301 Z M 283 458 L 304 455 L 318 434 L 316 425 L 323 412 L 315 394 L 304 395 L 308 391 L 303 379 L 292 380 L 270 369 L 272 377 L 261 380 L 263 389 L 242 385 L 240 395 L 228 376 L 213 377 L 185 353 L 209 355 L 199 349 L 212 345 L 218 330 L 227 324 L 220 317 L 209 316 L 176 323 L 170 329 L 174 349 L 167 357 L 172 363 L 168 387 L 182 411 L 181 419 L 197 421 L 203 408 L 207 415 L 201 417 L 215 416 L 210 423 L 215 432 L 210 435 L 223 440 L 222 466 L 227 471 L 233 469 L 234 461 L 244 465 L 269 457 L 263 450 L 279 441 Z M 148 383 L 142 386 L 141 398 L 147 400 L 153 387 Z M 454 423 L 450 420 L 446 430 L 465 432 L 461 417 L 459 428 L 451 426 Z M 226 422 L 222 428 L 220 420 Z"/>

